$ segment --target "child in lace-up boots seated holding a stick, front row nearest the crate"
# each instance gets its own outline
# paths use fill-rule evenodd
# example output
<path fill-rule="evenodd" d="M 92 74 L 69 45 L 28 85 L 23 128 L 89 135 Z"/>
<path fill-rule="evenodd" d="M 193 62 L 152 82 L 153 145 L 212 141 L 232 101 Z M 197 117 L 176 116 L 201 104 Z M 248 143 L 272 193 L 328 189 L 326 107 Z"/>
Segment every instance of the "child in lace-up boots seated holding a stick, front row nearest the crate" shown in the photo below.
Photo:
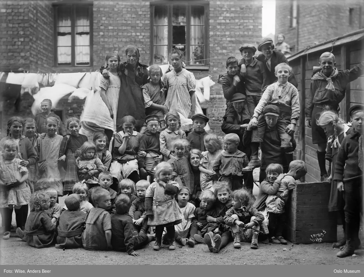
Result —
<path fill-rule="evenodd" d="M 240 242 L 252 242 L 250 248 L 258 249 L 260 223 L 264 216 L 252 206 L 251 194 L 246 189 L 233 192 L 232 207 L 227 210 L 224 220 L 230 226 L 234 248 L 241 248 Z"/>

